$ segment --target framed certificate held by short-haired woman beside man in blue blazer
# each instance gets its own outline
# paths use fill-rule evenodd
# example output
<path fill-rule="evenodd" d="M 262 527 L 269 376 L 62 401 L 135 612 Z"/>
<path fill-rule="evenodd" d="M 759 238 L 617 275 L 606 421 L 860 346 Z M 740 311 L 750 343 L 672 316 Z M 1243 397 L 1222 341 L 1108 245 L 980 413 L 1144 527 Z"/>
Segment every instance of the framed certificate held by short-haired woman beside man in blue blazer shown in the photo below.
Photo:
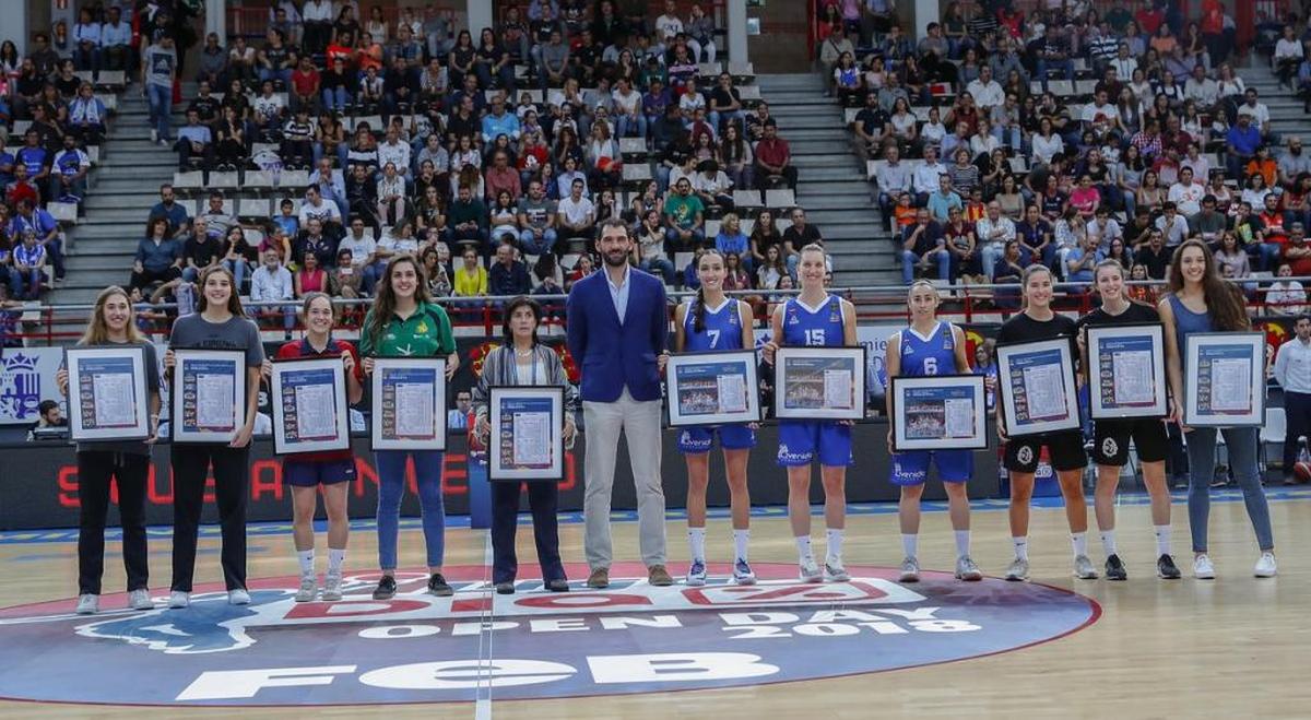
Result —
<path fill-rule="evenodd" d="M 564 480 L 564 388 L 493 387 L 488 416 L 488 480 Z"/>

